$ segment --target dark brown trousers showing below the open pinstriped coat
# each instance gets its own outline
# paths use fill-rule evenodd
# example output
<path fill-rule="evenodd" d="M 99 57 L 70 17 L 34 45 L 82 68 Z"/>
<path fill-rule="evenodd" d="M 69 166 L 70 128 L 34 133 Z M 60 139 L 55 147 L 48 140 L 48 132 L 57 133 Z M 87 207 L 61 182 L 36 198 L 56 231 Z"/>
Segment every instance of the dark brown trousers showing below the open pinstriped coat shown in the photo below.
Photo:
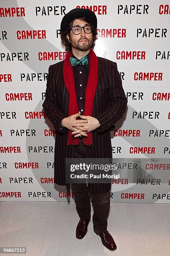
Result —
<path fill-rule="evenodd" d="M 80 138 L 79 145 L 74 146 L 73 158 L 85 158 L 85 145 Z M 91 205 L 87 190 L 87 183 L 72 183 L 72 192 L 75 196 L 76 210 L 80 219 L 90 218 Z M 110 209 L 110 192 L 91 193 L 94 213 L 92 221 L 98 232 L 107 230 L 107 216 Z"/>

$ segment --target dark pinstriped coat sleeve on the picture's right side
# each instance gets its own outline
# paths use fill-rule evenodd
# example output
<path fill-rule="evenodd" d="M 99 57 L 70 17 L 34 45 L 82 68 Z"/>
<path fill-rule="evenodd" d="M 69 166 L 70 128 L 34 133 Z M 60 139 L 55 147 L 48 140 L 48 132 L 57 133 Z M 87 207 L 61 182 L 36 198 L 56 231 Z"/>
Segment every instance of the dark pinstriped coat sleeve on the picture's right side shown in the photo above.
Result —
<path fill-rule="evenodd" d="M 111 61 L 110 67 L 110 94 L 109 105 L 106 110 L 102 111 L 99 115 L 95 116 L 100 123 L 100 126 L 95 129 L 97 133 L 105 131 L 113 131 L 115 123 L 122 118 L 126 110 L 128 100 L 122 87 L 122 79 L 117 70 L 117 63 Z"/>

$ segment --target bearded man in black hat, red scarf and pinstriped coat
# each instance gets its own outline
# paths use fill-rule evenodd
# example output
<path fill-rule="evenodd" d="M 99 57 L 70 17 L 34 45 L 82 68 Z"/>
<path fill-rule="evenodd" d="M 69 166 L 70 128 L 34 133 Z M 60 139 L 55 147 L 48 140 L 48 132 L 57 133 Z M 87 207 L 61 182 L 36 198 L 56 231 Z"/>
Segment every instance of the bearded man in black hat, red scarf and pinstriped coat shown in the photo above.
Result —
<path fill-rule="evenodd" d="M 97 35 L 96 15 L 75 8 L 67 13 L 60 26 L 67 55 L 49 67 L 43 108 L 54 125 L 55 183 L 65 185 L 65 158 L 110 158 L 110 131 L 122 118 L 127 99 L 116 62 L 97 57 L 93 51 Z M 94 232 L 109 250 L 117 248 L 107 230 L 111 183 L 72 183 L 80 221 L 76 238 L 82 239 L 90 222 L 92 195 Z"/>

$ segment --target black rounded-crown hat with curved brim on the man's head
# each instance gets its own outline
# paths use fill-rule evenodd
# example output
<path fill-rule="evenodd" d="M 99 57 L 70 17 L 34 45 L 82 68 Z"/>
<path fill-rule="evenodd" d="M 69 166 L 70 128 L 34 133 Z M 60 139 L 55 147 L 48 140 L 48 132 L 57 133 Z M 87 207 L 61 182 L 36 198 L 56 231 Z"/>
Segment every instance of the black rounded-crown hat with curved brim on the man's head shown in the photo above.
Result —
<path fill-rule="evenodd" d="M 62 18 L 61 25 L 60 25 L 60 33 L 65 31 L 65 29 L 67 29 L 68 23 L 70 23 L 71 20 L 78 18 L 78 17 L 90 18 L 94 28 L 97 28 L 97 17 L 95 15 L 95 13 L 93 13 L 89 9 L 75 8 L 75 9 L 70 10 L 70 12 L 67 13 Z"/>

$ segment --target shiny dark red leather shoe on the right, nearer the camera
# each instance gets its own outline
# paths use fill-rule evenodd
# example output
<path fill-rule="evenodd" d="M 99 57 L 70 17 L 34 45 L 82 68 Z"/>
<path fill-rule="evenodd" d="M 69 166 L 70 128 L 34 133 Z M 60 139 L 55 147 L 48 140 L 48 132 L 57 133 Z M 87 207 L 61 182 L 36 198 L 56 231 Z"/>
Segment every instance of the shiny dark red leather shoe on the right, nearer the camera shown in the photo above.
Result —
<path fill-rule="evenodd" d="M 110 251 L 115 251 L 117 249 L 117 246 L 115 244 L 115 241 L 113 240 L 112 236 L 110 235 L 109 231 L 104 231 L 104 232 L 98 232 L 94 227 L 93 227 L 94 232 L 96 233 L 97 236 L 100 236 L 102 240 L 102 244 L 109 249 Z"/>

